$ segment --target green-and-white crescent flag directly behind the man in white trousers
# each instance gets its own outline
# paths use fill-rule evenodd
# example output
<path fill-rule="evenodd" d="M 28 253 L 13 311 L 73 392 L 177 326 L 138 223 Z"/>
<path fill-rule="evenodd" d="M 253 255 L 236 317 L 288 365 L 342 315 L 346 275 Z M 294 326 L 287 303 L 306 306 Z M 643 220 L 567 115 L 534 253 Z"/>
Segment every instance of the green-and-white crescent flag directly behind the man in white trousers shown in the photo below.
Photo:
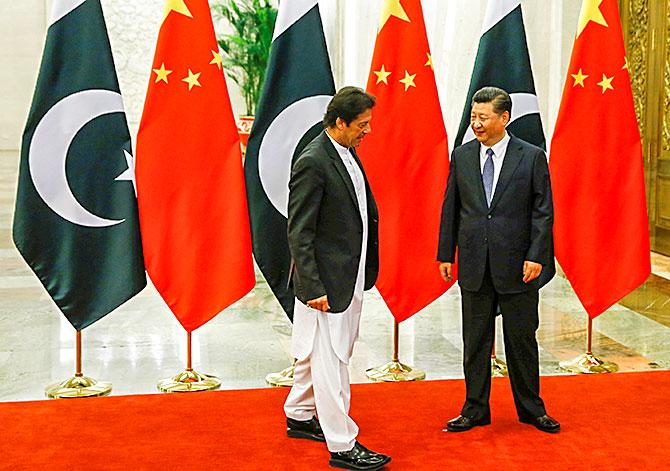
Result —
<path fill-rule="evenodd" d="M 288 287 L 286 225 L 291 164 L 323 130 L 334 94 L 317 0 L 281 2 L 244 176 L 254 257 L 290 318 L 294 297 Z"/>

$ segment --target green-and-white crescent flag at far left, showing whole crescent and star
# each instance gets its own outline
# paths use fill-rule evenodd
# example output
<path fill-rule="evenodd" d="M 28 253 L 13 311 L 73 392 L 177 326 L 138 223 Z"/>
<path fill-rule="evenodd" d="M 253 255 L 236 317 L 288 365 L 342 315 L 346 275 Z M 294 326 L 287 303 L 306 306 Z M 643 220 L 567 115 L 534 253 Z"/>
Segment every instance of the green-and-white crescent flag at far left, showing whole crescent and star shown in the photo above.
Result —
<path fill-rule="evenodd" d="M 13 235 L 77 330 L 146 285 L 130 152 L 100 0 L 55 0 L 23 134 Z"/>

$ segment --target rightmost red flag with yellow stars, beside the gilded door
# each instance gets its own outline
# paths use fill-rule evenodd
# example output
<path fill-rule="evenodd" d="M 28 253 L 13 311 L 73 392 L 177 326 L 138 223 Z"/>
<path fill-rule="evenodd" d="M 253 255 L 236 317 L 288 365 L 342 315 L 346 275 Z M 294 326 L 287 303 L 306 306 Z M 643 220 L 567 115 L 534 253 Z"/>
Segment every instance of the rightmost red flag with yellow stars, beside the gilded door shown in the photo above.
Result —
<path fill-rule="evenodd" d="M 556 258 L 594 318 L 649 276 L 642 147 L 616 0 L 584 0 L 549 159 Z"/>

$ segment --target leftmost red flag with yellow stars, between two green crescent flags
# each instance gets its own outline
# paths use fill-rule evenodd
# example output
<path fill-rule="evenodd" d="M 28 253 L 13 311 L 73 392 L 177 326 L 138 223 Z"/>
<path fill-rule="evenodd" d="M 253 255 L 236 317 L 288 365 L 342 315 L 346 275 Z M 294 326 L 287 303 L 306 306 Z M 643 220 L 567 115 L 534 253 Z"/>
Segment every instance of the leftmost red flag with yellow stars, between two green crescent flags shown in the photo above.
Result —
<path fill-rule="evenodd" d="M 191 332 L 253 287 L 242 157 L 207 0 L 168 0 L 137 136 L 147 271 Z"/>

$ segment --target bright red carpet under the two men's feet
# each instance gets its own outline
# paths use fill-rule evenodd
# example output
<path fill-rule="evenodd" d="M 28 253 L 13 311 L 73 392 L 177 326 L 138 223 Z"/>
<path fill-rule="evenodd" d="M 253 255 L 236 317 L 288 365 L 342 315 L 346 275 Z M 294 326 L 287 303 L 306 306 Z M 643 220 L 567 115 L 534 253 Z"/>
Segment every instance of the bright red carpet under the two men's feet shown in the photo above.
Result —
<path fill-rule="evenodd" d="M 328 469 L 325 445 L 285 436 L 286 389 L 0 404 L 0 469 Z M 444 433 L 460 380 L 354 385 L 360 441 L 389 471 L 670 469 L 670 372 L 543 377 L 550 435 L 519 423 L 507 379 L 493 423 Z"/>

